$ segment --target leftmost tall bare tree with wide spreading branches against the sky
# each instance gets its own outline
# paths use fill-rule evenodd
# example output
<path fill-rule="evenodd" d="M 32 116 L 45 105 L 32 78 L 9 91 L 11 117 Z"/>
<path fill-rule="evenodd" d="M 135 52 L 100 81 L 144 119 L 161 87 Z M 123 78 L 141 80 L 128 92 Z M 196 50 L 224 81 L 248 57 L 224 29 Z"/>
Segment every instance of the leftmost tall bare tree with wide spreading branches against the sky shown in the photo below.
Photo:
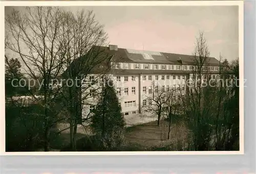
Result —
<path fill-rule="evenodd" d="M 31 78 L 42 84 L 42 100 L 31 95 L 44 107 L 45 151 L 49 151 L 49 131 L 58 121 L 61 112 L 54 108 L 57 91 L 51 88 L 52 79 L 60 75 L 65 60 L 64 45 L 58 42 L 61 10 L 55 7 L 27 7 L 22 13 L 13 10 L 6 16 L 6 31 L 9 40 L 6 48 L 16 53 L 25 65 Z"/>

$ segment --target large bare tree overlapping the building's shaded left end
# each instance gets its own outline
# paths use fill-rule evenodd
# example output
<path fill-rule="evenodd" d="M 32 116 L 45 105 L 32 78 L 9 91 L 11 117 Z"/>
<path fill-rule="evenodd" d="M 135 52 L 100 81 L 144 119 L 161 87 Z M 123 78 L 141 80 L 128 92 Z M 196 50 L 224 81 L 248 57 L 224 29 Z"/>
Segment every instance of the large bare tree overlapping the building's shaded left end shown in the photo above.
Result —
<path fill-rule="evenodd" d="M 59 44 L 64 47 L 61 50 L 62 78 L 76 84 L 63 83 L 60 95 L 69 111 L 71 149 L 75 150 L 77 124 L 88 121 L 91 116 L 91 113 L 84 115 L 81 112 L 83 106 L 95 104 L 102 88 L 102 79 L 112 65 L 111 56 L 106 54 L 106 47 L 103 47 L 107 35 L 92 11 L 82 10 L 76 14 L 62 12 L 61 15 Z"/>

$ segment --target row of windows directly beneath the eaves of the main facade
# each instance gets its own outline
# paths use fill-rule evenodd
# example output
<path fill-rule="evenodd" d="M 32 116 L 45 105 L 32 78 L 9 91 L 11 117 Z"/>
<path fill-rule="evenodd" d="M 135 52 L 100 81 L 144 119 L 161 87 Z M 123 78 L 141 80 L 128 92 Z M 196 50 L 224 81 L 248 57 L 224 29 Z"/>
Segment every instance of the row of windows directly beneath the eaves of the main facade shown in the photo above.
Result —
<path fill-rule="evenodd" d="M 181 77 L 182 77 L 182 79 L 185 79 L 185 76 L 173 76 L 173 79 L 175 80 L 176 79 L 176 77 L 177 77 L 177 79 L 181 79 Z M 159 80 L 159 76 L 158 75 L 156 75 L 156 76 L 154 76 L 154 78 L 155 78 L 155 80 Z M 161 78 L 161 80 L 169 80 L 170 79 L 170 75 L 162 75 L 162 76 L 160 76 L 160 78 Z M 132 76 L 132 81 L 135 81 L 135 76 Z M 142 80 L 143 81 L 146 81 L 146 80 L 148 80 L 148 81 L 152 81 L 152 76 L 150 75 L 150 76 L 142 76 Z M 117 76 L 116 77 L 116 81 L 117 82 L 121 82 L 121 77 L 120 76 Z M 129 77 L 128 76 L 124 76 L 124 82 L 128 82 L 129 81 Z"/>

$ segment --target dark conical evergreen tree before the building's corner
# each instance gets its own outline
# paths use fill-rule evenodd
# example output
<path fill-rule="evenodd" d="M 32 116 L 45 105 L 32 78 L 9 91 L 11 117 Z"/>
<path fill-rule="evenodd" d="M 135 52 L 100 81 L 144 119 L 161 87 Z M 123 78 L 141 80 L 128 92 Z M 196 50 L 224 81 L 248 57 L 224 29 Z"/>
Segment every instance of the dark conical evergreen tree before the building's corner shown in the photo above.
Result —
<path fill-rule="evenodd" d="M 92 116 L 91 127 L 100 137 L 101 150 L 118 148 L 123 141 L 125 121 L 111 80 L 106 80 L 102 96 Z"/>

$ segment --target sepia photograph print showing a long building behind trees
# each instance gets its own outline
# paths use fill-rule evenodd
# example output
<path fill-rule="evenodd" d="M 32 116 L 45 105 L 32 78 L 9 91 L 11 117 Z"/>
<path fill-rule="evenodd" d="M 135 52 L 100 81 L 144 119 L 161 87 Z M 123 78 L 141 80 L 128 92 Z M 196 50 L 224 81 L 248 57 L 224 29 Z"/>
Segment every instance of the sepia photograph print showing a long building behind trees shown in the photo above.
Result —
<path fill-rule="evenodd" d="M 241 8 L 5 6 L 5 152 L 243 151 Z"/>

